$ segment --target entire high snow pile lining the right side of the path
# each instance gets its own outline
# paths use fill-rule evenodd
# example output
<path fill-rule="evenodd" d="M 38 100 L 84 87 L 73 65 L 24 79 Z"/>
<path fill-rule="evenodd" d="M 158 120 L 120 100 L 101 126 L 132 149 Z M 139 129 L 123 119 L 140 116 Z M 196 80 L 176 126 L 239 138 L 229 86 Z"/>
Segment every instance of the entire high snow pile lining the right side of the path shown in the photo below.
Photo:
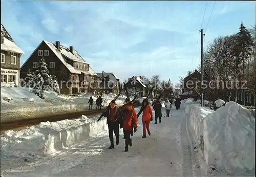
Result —
<path fill-rule="evenodd" d="M 219 101 L 223 103 L 223 101 Z M 189 128 L 195 132 L 205 163 L 228 171 L 255 170 L 255 109 L 228 102 L 216 111 L 184 101 Z"/>

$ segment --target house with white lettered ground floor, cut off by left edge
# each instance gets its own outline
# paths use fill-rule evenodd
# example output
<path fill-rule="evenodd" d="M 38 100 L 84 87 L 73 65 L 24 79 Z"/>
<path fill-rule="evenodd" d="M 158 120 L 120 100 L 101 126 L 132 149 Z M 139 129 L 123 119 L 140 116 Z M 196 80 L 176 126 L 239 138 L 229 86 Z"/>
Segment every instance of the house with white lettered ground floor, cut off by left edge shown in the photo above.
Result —
<path fill-rule="evenodd" d="M 24 52 L 1 24 L 1 86 L 19 86 L 19 60 Z"/>

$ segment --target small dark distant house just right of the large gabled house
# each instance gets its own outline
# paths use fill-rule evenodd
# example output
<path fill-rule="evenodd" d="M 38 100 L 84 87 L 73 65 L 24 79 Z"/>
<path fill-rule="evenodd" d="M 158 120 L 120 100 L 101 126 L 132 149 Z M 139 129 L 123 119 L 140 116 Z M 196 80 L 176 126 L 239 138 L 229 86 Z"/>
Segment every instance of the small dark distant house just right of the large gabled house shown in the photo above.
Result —
<path fill-rule="evenodd" d="M 119 93 L 119 82 L 120 79 L 114 73 L 97 73 L 98 76 L 98 90 L 102 93 Z"/>

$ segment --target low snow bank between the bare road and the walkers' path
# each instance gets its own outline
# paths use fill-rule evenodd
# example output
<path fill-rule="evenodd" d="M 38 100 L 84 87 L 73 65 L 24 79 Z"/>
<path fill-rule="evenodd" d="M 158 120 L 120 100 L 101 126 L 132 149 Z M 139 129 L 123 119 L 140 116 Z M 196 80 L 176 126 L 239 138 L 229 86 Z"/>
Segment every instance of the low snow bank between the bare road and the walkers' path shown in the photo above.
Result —
<path fill-rule="evenodd" d="M 23 130 L 6 131 L 1 136 L 1 156 L 47 156 L 68 149 L 89 137 L 106 132 L 105 118 L 82 116 L 76 120 L 41 122 Z"/>

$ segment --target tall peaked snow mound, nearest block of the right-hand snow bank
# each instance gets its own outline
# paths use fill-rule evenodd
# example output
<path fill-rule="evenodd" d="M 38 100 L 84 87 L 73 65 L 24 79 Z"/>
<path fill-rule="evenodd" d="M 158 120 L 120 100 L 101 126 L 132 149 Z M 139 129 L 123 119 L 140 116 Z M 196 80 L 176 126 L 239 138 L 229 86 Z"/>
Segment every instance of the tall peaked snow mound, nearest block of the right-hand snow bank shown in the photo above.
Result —
<path fill-rule="evenodd" d="M 225 168 L 255 169 L 255 110 L 235 102 L 208 115 L 204 121 L 207 164 Z"/>

